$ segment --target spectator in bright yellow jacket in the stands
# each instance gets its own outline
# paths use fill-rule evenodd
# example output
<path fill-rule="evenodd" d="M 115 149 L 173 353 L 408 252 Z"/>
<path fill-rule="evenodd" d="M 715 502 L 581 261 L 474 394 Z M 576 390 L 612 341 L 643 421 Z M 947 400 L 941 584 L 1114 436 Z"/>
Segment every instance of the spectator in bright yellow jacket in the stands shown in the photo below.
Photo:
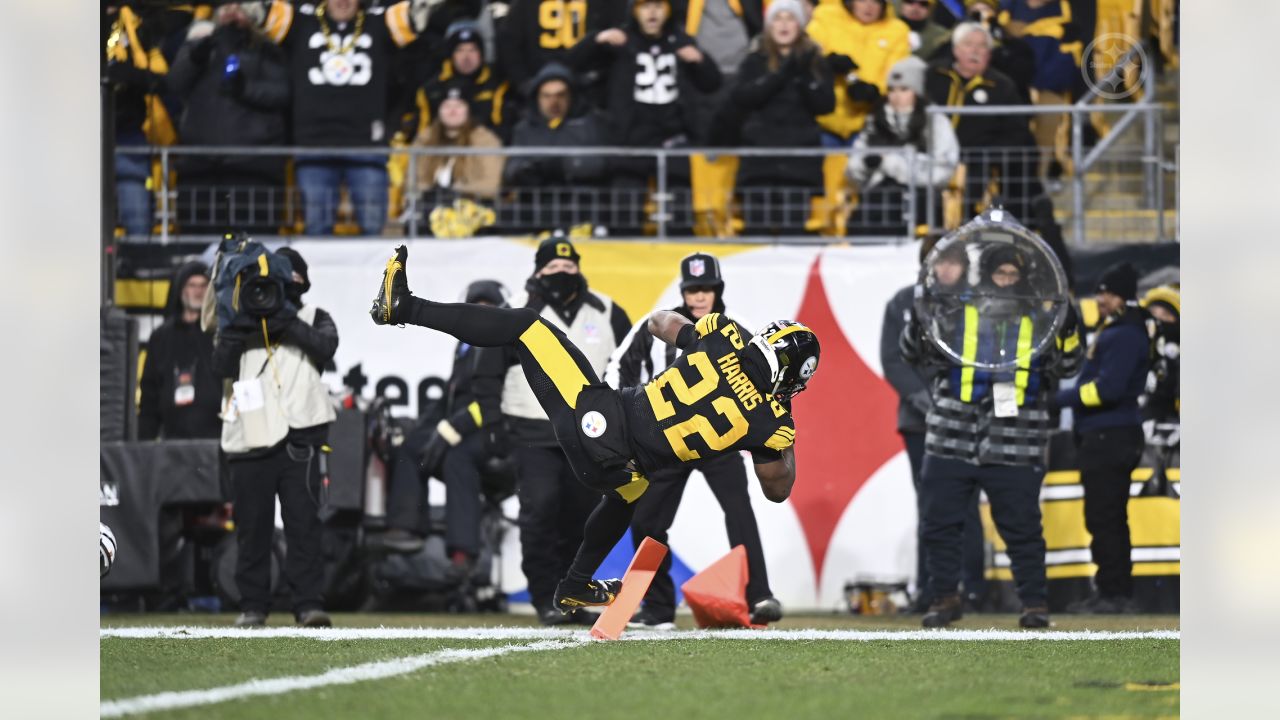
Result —
<path fill-rule="evenodd" d="M 836 77 L 836 110 L 818 118 L 823 143 L 847 147 L 884 95 L 890 68 L 911 54 L 910 28 L 886 0 L 819 0 L 806 29 Z"/>

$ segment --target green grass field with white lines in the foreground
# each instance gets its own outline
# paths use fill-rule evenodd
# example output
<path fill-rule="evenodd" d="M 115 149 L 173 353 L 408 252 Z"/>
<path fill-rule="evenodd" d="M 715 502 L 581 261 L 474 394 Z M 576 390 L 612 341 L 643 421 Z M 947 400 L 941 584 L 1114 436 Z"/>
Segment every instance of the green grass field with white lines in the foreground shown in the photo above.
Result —
<path fill-rule="evenodd" d="M 530 628 L 532 618 L 522 616 L 339 615 L 340 630 L 292 633 L 297 637 L 269 637 L 271 630 L 247 637 L 227 633 L 223 629 L 230 619 L 104 618 L 104 716 L 157 707 L 148 703 L 168 707 L 148 717 L 273 720 L 1149 717 L 1179 712 L 1176 635 L 1047 639 L 1076 630 L 1176 632 L 1174 616 L 1059 616 L 1053 630 L 1011 633 L 1015 616 L 980 615 L 956 626 L 1038 639 L 973 635 L 979 639 L 960 641 L 900 637 L 919 629 L 915 616 L 815 615 L 788 618 L 777 628 L 824 629 L 826 634 L 812 634 L 823 639 L 628 632 L 627 638 L 666 639 L 612 643 L 589 641 L 582 630 L 548 634 Z M 288 620 L 280 616 L 273 628 L 287 628 Z M 681 620 L 684 628 L 690 619 Z M 159 625 L 192 629 L 169 637 L 174 633 L 143 628 Z M 200 637 L 196 625 L 212 628 L 205 634 L 220 637 Z M 498 630 L 498 625 L 507 629 Z M 467 629 L 407 630 L 433 626 Z M 833 630 L 876 634 L 874 639 L 847 639 L 851 635 L 844 633 L 836 639 Z M 114 637 L 113 632 L 148 637 Z M 422 637 L 404 637 L 413 633 Z"/>

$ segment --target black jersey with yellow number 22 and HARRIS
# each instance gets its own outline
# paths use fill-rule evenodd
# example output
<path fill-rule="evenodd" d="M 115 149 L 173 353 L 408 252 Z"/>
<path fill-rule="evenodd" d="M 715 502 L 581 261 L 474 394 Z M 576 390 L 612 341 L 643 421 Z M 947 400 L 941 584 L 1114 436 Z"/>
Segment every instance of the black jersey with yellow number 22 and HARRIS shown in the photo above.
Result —
<path fill-rule="evenodd" d="M 718 313 L 703 316 L 698 340 L 643 387 L 621 391 L 631 447 L 652 473 L 749 450 L 781 457 L 795 442 L 795 423 L 746 372 L 746 334 Z"/>

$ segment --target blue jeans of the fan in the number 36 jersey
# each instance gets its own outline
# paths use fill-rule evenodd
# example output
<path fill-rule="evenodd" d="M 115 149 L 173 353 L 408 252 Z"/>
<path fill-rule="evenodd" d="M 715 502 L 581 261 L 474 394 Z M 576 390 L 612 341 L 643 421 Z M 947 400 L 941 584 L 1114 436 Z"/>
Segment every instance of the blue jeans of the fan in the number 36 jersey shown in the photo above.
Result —
<path fill-rule="evenodd" d="M 297 161 L 307 234 L 333 234 L 338 187 L 346 183 L 361 234 L 378 234 L 387 223 L 387 158 L 306 158 Z"/>

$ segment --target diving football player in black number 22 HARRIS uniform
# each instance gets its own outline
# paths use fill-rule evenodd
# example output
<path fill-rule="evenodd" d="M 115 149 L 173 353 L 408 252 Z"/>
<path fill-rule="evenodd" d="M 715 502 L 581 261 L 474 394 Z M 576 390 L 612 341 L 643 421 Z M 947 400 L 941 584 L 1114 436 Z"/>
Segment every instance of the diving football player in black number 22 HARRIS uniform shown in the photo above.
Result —
<path fill-rule="evenodd" d="M 795 483 L 791 397 L 818 369 L 820 348 L 809 328 L 776 320 L 745 336 L 718 313 L 698 324 L 668 311 L 649 315 L 649 332 L 684 354 L 643 387 L 602 383 L 577 347 L 526 307 L 431 302 L 408 290 L 402 245 L 387 261 L 370 314 L 379 325 L 421 325 L 476 347 L 512 345 L 547 411 L 570 465 L 603 493 L 582 532 L 577 556 L 556 591 L 556 607 L 613 602 L 621 580 L 591 574 L 631 523 L 649 487 L 645 473 L 749 451 L 764 496 L 782 502 Z"/>

